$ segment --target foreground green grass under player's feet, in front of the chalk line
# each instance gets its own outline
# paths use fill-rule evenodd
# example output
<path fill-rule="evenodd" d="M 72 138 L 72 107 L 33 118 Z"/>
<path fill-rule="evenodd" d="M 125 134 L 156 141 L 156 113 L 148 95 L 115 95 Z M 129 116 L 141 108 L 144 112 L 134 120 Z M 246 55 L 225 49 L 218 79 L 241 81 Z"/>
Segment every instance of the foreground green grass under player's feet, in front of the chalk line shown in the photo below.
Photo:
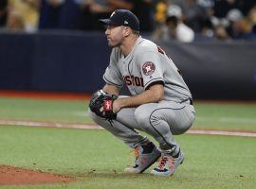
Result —
<path fill-rule="evenodd" d="M 186 161 L 174 177 L 123 173 L 129 148 L 105 130 L 0 127 L 0 163 L 70 175 L 66 184 L 1 188 L 253 188 L 255 139 L 181 135 Z M 95 171 L 92 171 L 95 170 Z"/>

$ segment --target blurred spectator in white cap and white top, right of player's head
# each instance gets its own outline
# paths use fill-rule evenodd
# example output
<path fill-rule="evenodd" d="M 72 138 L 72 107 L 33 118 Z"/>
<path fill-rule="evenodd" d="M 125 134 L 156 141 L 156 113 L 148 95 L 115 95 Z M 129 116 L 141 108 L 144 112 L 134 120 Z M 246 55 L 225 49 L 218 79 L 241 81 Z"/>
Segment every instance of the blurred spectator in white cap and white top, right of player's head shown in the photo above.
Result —
<path fill-rule="evenodd" d="M 167 9 L 166 25 L 155 31 L 153 39 L 191 43 L 194 40 L 194 32 L 182 22 L 182 10 L 176 5 L 171 5 Z"/>

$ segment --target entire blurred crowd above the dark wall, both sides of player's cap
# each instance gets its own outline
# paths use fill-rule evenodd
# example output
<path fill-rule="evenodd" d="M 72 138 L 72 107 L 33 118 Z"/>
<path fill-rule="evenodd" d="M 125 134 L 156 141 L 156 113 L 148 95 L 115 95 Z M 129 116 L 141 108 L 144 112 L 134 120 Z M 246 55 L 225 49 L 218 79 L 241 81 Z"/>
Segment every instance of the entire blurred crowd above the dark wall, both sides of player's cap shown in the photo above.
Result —
<path fill-rule="evenodd" d="M 256 39 L 256 0 L 0 0 L 0 28 L 99 30 L 114 9 L 131 9 L 155 40 Z"/>

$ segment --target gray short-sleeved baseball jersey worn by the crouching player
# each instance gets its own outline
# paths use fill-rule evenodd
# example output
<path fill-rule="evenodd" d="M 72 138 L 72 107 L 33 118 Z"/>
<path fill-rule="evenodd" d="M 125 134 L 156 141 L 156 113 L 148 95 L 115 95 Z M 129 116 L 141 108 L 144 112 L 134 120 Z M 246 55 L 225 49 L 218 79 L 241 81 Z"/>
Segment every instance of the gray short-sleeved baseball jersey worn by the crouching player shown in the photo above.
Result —
<path fill-rule="evenodd" d="M 141 94 L 151 84 L 161 82 L 164 100 L 181 102 L 192 98 L 174 61 L 161 47 L 141 37 L 127 57 L 121 54 L 119 47 L 113 48 L 103 79 L 118 87 L 125 84 L 132 95 Z"/>

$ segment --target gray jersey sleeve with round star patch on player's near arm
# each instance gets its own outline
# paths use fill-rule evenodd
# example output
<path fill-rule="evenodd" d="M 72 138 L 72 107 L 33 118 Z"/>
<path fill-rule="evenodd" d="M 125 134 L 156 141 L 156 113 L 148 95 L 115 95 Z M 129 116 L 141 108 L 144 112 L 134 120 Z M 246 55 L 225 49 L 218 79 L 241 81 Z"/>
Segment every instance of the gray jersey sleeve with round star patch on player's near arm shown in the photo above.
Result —
<path fill-rule="evenodd" d="M 154 51 L 144 52 L 138 58 L 139 69 L 143 77 L 144 89 L 146 90 L 153 83 L 165 84 L 160 58 Z"/>

